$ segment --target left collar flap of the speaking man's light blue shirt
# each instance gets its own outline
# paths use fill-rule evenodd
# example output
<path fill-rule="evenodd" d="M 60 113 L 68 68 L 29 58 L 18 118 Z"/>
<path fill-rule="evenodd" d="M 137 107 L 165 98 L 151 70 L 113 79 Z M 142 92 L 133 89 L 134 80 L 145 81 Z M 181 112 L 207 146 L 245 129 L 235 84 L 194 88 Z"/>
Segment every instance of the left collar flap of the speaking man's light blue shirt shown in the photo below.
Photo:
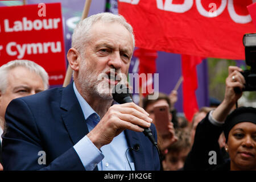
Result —
<path fill-rule="evenodd" d="M 85 101 L 85 99 L 78 92 L 78 90 L 76 89 L 75 82 L 73 82 L 73 89 L 75 91 L 77 100 L 79 101 L 79 104 L 80 104 L 80 106 L 82 108 L 82 113 L 84 113 L 85 120 L 88 119 L 88 117 L 90 117 L 90 115 L 92 115 L 94 113 L 98 116 L 98 118 L 100 118 L 100 116 L 96 113 L 96 111 L 94 111 L 92 109 L 92 107 Z"/>

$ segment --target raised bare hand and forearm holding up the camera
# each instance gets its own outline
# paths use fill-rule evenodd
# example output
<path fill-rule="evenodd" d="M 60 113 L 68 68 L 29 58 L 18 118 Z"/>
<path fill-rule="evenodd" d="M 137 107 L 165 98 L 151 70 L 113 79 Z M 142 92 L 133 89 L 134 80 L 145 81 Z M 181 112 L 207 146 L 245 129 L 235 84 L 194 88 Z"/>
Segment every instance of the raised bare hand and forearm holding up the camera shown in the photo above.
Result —
<path fill-rule="evenodd" d="M 226 78 L 225 97 L 221 104 L 213 111 L 212 117 L 223 122 L 232 110 L 234 104 L 242 96 L 242 89 L 245 87 L 245 78 L 240 73 L 241 68 L 229 67 L 229 76 Z M 235 88 L 241 92 L 235 92 Z"/>

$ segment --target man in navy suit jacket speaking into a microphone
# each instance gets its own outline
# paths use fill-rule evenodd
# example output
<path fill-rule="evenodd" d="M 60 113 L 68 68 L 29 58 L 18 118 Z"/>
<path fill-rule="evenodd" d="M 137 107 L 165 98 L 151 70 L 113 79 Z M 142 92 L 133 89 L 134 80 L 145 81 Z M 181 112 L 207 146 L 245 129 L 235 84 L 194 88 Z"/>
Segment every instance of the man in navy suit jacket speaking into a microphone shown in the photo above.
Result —
<path fill-rule="evenodd" d="M 113 75 L 127 75 L 133 51 L 133 28 L 122 16 L 82 20 L 67 54 L 74 82 L 7 107 L 4 169 L 159 170 L 157 150 L 142 133 L 150 127 L 156 138 L 152 119 L 134 103 L 112 105 Z"/>

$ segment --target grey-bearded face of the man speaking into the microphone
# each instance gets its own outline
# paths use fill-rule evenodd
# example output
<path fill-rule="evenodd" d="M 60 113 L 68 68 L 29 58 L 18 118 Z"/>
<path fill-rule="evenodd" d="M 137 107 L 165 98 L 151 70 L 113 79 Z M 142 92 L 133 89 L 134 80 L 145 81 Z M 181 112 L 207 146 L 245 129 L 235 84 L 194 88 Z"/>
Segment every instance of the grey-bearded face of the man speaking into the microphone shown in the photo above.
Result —
<path fill-rule="evenodd" d="M 82 92 L 89 90 L 90 94 L 111 99 L 111 90 L 118 83 L 114 77 L 127 76 L 133 54 L 133 39 L 130 32 L 118 23 L 98 22 L 90 32 L 90 40 L 79 67 L 78 82 Z M 110 75 L 114 77 L 110 78 Z"/>

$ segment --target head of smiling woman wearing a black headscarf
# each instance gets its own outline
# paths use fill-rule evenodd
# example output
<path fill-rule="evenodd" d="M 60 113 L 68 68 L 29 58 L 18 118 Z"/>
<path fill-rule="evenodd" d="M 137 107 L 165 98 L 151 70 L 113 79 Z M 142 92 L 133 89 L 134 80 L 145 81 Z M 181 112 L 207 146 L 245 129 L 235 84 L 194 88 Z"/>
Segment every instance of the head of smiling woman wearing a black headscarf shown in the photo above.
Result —
<path fill-rule="evenodd" d="M 224 124 L 230 170 L 256 170 L 256 109 L 239 107 Z"/>

